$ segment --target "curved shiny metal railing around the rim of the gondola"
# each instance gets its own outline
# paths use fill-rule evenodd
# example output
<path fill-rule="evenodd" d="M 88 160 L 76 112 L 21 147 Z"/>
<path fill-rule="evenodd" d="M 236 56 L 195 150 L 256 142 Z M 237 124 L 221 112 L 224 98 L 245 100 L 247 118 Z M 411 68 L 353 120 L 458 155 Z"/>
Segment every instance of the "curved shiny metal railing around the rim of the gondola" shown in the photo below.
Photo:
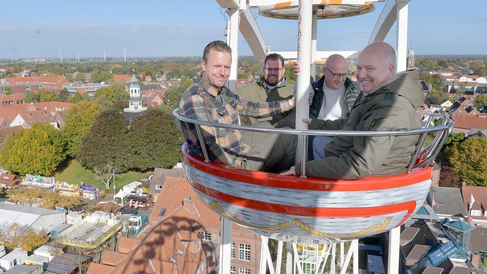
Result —
<path fill-rule="evenodd" d="M 416 145 L 416 150 L 411 158 L 411 162 L 408 165 L 406 172 L 411 172 L 414 168 L 418 167 L 428 167 L 432 164 L 434 158 L 438 155 L 441 147 L 443 146 L 448 134 L 453 130 L 454 122 L 445 114 L 433 113 L 429 111 L 417 110 L 418 114 L 424 115 L 423 121 L 425 125 L 422 128 L 411 130 L 411 131 L 352 131 L 352 130 L 303 130 L 303 129 L 290 129 L 290 128 L 267 128 L 267 127 L 254 127 L 254 126 L 243 126 L 243 125 L 232 125 L 232 124 L 221 124 L 215 122 L 201 121 L 196 119 L 187 118 L 181 116 L 178 113 L 178 109 L 174 110 L 172 114 L 176 118 L 176 122 L 181 129 L 181 133 L 185 140 L 187 140 L 187 135 L 184 132 L 184 127 L 182 122 L 187 122 L 194 124 L 197 132 L 198 141 L 202 144 L 201 148 L 203 151 L 203 158 L 205 162 L 210 162 L 208 150 L 205 145 L 205 138 L 201 126 L 209 126 L 215 128 L 226 128 L 232 130 L 244 130 L 244 131 L 254 131 L 254 132 L 266 132 L 266 133 L 277 133 L 277 134 L 292 134 L 302 136 L 302 155 L 301 159 L 308 160 L 308 136 L 404 136 L 404 135 L 420 135 L 419 141 Z M 439 126 L 431 126 L 433 118 L 442 119 L 442 123 Z M 433 141 L 430 144 L 425 144 L 427 141 L 428 134 L 434 134 Z M 306 161 L 301 161 L 301 174 L 306 176 Z"/>

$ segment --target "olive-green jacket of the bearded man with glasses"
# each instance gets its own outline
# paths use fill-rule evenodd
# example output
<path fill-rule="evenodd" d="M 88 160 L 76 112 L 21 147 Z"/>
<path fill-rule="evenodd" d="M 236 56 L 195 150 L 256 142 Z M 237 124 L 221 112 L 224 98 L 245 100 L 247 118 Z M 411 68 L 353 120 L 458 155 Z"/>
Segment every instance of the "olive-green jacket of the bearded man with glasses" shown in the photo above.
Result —
<path fill-rule="evenodd" d="M 242 86 L 234 93 L 242 98 L 245 98 L 251 102 L 265 103 L 273 101 L 282 101 L 292 98 L 294 85 L 288 84 L 284 78 L 282 84 L 276 88 L 269 90 L 264 82 L 264 76 L 257 79 L 255 83 Z M 284 111 L 271 117 L 266 118 L 254 118 L 240 116 L 242 124 L 254 125 L 258 122 L 269 121 L 272 125 L 275 125 L 279 120 L 289 115 L 291 111 Z M 248 122 L 247 122 L 248 121 Z"/>

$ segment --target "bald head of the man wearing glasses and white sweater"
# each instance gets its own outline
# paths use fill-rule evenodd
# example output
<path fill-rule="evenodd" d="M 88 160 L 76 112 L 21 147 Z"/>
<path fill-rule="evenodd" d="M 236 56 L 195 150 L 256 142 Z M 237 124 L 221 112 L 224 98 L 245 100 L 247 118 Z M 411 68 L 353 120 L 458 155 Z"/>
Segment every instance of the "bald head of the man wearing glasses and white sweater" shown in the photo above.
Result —
<path fill-rule="evenodd" d="M 335 78 L 335 76 L 339 75 Z M 348 75 L 348 63 L 342 55 L 330 55 L 323 67 L 323 75 L 325 75 L 325 85 L 330 89 L 338 89 L 345 83 L 345 78 L 341 75 Z"/>

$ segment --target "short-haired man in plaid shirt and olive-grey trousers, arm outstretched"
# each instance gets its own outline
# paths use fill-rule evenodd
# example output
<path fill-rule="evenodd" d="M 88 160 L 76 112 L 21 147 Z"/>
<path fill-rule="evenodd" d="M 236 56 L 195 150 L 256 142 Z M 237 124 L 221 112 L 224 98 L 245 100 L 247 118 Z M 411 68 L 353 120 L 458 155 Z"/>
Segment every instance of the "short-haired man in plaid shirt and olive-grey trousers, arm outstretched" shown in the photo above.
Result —
<path fill-rule="evenodd" d="M 208 44 L 201 66 L 203 74 L 181 97 L 182 116 L 224 124 L 238 124 L 238 115 L 268 117 L 291 110 L 294 99 L 253 103 L 225 87 L 232 62 L 231 49 L 222 41 Z M 269 122 L 256 124 L 271 127 Z M 294 164 L 296 136 L 201 126 L 211 161 L 251 170 L 279 171 Z M 189 152 L 203 156 L 193 124 L 183 123 Z"/>

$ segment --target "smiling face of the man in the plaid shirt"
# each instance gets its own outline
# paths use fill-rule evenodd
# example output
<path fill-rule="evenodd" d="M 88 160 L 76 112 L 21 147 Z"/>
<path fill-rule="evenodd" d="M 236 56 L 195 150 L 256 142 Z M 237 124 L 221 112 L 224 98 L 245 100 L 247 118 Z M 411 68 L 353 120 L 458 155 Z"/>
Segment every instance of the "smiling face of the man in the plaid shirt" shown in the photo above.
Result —
<path fill-rule="evenodd" d="M 203 78 L 216 89 L 221 89 L 225 86 L 226 80 L 228 80 L 231 64 L 232 55 L 229 52 L 211 50 L 207 61 L 201 61 Z"/>

